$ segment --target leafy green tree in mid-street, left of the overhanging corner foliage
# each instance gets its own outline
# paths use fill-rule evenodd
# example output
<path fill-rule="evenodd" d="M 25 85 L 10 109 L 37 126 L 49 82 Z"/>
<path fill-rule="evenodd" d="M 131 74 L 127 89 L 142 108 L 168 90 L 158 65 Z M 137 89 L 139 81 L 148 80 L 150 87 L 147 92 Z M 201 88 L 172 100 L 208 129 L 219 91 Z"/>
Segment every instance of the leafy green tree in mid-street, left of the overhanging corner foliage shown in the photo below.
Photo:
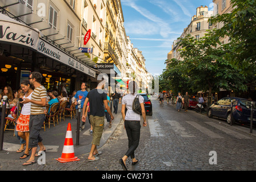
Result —
<path fill-rule="evenodd" d="M 228 56 L 233 51 L 233 42 L 222 45 L 214 35 L 215 30 L 209 30 L 199 40 L 191 35 L 179 39 L 183 68 L 193 80 L 193 89 L 208 89 L 210 94 L 220 88 L 246 90 L 245 76 Z"/>

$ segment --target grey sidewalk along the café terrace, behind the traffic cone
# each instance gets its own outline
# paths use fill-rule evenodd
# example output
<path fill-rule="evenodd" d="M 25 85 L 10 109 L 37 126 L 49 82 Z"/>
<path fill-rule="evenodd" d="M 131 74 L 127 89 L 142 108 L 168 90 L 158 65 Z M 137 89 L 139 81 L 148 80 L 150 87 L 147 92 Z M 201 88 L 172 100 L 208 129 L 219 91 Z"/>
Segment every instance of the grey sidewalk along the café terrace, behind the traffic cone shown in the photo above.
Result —
<path fill-rule="evenodd" d="M 105 118 L 105 127 L 101 138 L 101 143 L 97 147 L 98 149 L 101 148 L 109 139 L 109 137 L 113 134 L 116 127 L 122 121 L 122 114 L 121 114 L 121 105 L 118 105 L 118 114 L 114 115 L 114 121 L 112 122 L 112 127 L 109 128 L 109 123 L 106 121 Z M 91 149 L 91 140 L 93 136 L 90 135 L 90 124 L 86 119 L 85 129 L 79 133 L 79 145 L 76 145 L 77 141 L 77 119 L 70 119 L 70 117 L 66 117 L 65 121 L 61 119 L 59 125 L 55 122 L 55 127 L 53 125 L 50 126 L 46 125 L 46 131 L 41 130 L 40 134 L 43 138 L 43 144 L 46 147 L 46 164 L 53 162 L 53 159 L 57 159 L 61 157 L 63 144 L 65 142 L 66 131 L 67 131 L 67 124 L 70 122 L 71 129 L 72 129 L 72 137 L 74 143 L 74 153 L 75 156 L 84 157 L 89 155 Z M 17 153 L 16 151 L 19 149 L 21 145 L 17 137 L 13 136 L 13 131 L 5 131 L 4 139 L 3 139 L 3 150 L 0 151 L 0 170 L 22 170 L 24 167 L 22 164 L 30 158 L 30 156 L 26 159 L 19 159 L 19 157 L 23 154 Z M 39 147 L 37 149 L 39 151 Z M 88 153 L 88 154 L 87 154 Z M 31 152 L 30 152 L 31 154 Z M 33 166 L 33 165 L 32 165 Z M 35 166 L 34 166 L 35 167 Z"/>

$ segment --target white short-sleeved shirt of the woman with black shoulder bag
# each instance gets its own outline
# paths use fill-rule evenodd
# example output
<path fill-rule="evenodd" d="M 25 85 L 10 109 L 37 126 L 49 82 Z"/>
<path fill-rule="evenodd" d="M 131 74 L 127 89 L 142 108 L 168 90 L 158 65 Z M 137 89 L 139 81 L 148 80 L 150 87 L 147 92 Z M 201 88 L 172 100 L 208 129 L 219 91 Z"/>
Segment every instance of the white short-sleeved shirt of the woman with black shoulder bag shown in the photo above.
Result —
<path fill-rule="evenodd" d="M 126 96 L 123 96 L 122 98 L 122 105 L 126 105 L 127 112 L 125 115 L 125 120 L 131 120 L 131 121 L 141 121 L 141 115 L 134 113 L 133 111 L 133 100 L 137 96 L 137 94 L 127 94 Z M 144 98 L 142 96 L 139 96 L 139 104 L 144 102 Z"/>

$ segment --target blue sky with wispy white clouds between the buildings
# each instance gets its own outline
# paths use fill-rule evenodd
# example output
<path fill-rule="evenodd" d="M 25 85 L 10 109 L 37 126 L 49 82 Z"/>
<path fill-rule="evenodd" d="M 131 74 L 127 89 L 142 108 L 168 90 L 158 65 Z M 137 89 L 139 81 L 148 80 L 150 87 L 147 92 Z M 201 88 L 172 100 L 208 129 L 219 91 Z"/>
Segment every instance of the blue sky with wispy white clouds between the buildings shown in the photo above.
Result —
<path fill-rule="evenodd" d="M 212 0 L 121 0 L 126 35 L 134 48 L 142 51 L 146 69 L 161 75 L 173 41 L 195 15 L 197 7 L 208 6 Z"/>

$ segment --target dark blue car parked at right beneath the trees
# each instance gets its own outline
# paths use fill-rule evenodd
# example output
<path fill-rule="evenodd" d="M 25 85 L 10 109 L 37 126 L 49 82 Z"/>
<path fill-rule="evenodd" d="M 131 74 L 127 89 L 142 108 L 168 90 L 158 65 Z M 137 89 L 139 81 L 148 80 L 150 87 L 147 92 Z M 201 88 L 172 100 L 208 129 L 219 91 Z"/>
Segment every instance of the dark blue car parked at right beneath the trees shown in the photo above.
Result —
<path fill-rule="evenodd" d="M 233 100 L 233 122 L 250 123 L 251 101 L 245 98 L 225 97 L 215 102 L 208 109 L 208 117 L 213 116 L 231 122 L 231 100 Z M 256 124 L 256 106 L 253 104 L 253 123 Z"/>

